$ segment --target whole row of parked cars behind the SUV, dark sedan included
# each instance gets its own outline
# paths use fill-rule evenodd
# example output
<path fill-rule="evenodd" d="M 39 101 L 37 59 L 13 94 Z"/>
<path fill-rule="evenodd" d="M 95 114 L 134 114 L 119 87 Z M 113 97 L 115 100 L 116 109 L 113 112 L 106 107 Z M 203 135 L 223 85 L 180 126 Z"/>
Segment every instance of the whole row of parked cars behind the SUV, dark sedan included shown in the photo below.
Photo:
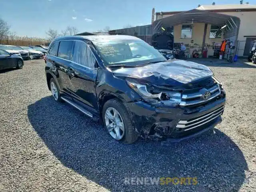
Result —
<path fill-rule="evenodd" d="M 44 58 L 48 47 L 46 46 L 13 46 L 0 45 L 0 70 L 23 67 L 23 60 Z"/>

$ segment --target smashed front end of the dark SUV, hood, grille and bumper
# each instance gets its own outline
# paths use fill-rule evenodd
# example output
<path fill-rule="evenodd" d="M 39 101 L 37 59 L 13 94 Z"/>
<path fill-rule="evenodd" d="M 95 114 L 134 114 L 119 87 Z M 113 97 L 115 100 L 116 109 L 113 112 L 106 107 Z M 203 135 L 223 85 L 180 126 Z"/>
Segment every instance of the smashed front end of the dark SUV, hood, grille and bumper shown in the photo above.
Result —
<path fill-rule="evenodd" d="M 127 102 L 142 138 L 179 142 L 206 132 L 221 122 L 225 106 L 223 85 L 207 66 L 168 60 L 136 68 L 120 68 L 141 100 Z"/>

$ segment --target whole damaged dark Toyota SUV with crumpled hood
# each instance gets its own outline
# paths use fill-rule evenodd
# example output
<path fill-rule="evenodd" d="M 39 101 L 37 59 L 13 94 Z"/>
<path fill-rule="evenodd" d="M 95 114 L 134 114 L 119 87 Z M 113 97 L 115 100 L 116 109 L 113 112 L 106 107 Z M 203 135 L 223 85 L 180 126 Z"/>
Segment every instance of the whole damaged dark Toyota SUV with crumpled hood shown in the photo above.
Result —
<path fill-rule="evenodd" d="M 210 68 L 167 60 L 133 36 L 54 39 L 46 56 L 54 100 L 101 120 L 116 140 L 178 142 L 221 122 L 225 91 Z"/>

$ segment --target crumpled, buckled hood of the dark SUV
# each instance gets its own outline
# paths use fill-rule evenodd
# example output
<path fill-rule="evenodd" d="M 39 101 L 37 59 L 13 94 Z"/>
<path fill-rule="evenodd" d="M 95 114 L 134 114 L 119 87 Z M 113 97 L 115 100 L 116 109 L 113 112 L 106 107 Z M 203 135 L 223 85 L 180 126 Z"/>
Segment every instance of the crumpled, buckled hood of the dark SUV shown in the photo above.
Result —
<path fill-rule="evenodd" d="M 176 59 L 112 72 L 115 76 L 140 78 L 155 85 L 188 84 L 213 75 L 207 66 Z"/>

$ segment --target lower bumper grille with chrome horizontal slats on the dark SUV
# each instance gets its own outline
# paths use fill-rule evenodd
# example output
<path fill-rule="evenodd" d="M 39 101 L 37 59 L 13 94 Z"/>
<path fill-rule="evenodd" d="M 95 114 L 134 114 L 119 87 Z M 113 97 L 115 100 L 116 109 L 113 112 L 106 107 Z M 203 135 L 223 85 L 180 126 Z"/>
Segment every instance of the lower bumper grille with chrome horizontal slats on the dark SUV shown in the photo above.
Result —
<path fill-rule="evenodd" d="M 190 120 L 180 120 L 176 128 L 179 128 L 180 131 L 188 131 L 188 130 L 194 129 L 198 126 L 204 125 L 214 120 L 215 118 L 220 116 L 223 111 L 224 111 L 224 106 L 221 106 L 220 108 L 212 112 L 209 112 L 208 114 L 205 114 L 203 116 L 199 116 Z"/>

